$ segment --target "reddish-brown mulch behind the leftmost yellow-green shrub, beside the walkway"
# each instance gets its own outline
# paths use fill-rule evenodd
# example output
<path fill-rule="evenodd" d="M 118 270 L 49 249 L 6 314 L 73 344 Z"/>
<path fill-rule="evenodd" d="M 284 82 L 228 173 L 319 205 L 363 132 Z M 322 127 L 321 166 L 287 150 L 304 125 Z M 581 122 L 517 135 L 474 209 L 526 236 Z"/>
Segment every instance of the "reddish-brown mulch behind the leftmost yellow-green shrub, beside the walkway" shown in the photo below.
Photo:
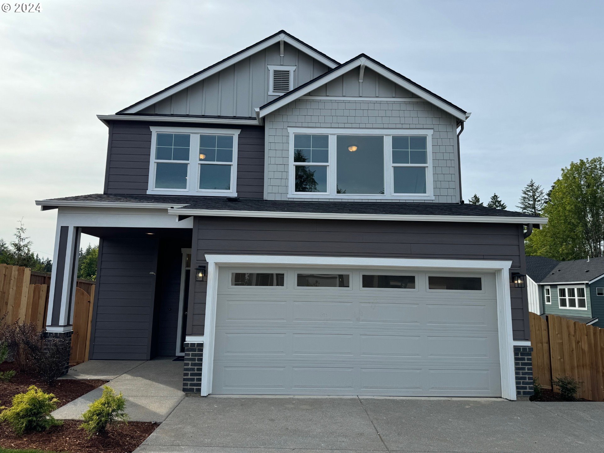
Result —
<path fill-rule="evenodd" d="M 0 371 L 12 369 L 14 369 L 14 365 L 11 363 L 0 364 Z M 17 373 L 10 381 L 0 383 L 0 406 L 10 406 L 13 396 L 25 393 L 30 385 L 35 385 L 43 391 L 53 393 L 59 399 L 57 404 L 57 408 L 59 408 L 107 382 L 109 381 L 99 379 L 59 379 L 51 387 L 40 382 L 37 377 Z"/>

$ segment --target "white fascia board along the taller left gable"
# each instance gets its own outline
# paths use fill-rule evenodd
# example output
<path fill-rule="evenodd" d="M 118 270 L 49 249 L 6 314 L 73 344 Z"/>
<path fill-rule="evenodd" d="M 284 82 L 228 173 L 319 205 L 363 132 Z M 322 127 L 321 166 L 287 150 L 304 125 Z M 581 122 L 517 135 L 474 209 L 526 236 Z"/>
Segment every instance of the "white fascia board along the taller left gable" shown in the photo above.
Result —
<path fill-rule="evenodd" d="M 295 39 L 292 39 L 291 37 L 287 36 L 286 34 L 279 34 L 277 36 L 272 37 L 271 39 L 268 39 L 264 42 L 259 43 L 258 45 L 255 45 L 254 47 L 246 50 L 243 53 L 240 53 L 239 55 L 236 55 L 236 56 L 226 60 L 225 62 L 220 63 L 220 65 L 214 66 L 213 68 L 208 69 L 207 71 L 204 71 L 201 74 L 198 74 L 197 76 L 195 76 L 191 79 L 185 80 L 184 82 L 179 83 L 176 86 L 173 86 L 169 90 L 163 91 L 163 92 L 159 93 L 158 95 L 153 96 L 150 99 L 147 99 L 146 101 L 142 101 L 138 104 L 135 104 L 134 106 L 127 109 L 127 111 L 125 111 L 124 113 L 140 112 L 141 110 L 149 107 L 150 105 L 153 105 L 153 104 L 161 101 L 162 99 L 170 97 L 173 94 L 178 93 L 179 91 L 182 91 L 183 89 L 188 88 L 189 86 L 200 82 L 201 80 L 207 79 L 208 77 L 213 76 L 213 74 L 216 74 L 217 72 L 220 72 L 223 69 L 228 68 L 229 66 L 233 66 L 235 63 L 245 60 L 246 58 L 254 55 L 255 53 L 258 53 L 261 50 L 265 50 L 266 48 L 271 47 L 273 44 L 278 43 L 281 40 L 284 40 L 284 42 L 292 45 L 293 47 L 297 48 L 298 50 L 301 50 L 304 53 L 309 54 L 315 60 L 320 61 L 321 63 L 323 63 L 330 69 L 333 69 L 336 66 L 338 66 L 336 63 L 327 59 L 323 55 L 316 53 L 314 50 L 306 47 L 302 43 L 298 42 Z"/>

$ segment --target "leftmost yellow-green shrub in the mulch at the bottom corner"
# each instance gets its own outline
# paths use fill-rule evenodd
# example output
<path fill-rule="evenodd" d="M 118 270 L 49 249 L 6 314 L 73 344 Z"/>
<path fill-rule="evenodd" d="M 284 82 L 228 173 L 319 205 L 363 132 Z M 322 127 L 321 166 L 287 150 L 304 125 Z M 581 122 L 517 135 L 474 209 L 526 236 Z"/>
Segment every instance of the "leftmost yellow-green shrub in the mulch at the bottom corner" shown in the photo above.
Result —
<path fill-rule="evenodd" d="M 8 422 L 17 435 L 29 431 L 45 431 L 51 426 L 62 425 L 63 422 L 51 416 L 57 408 L 58 399 L 52 393 L 44 393 L 35 385 L 28 388 L 27 393 L 19 393 L 13 397 L 13 405 L 0 413 L 0 422 Z"/>

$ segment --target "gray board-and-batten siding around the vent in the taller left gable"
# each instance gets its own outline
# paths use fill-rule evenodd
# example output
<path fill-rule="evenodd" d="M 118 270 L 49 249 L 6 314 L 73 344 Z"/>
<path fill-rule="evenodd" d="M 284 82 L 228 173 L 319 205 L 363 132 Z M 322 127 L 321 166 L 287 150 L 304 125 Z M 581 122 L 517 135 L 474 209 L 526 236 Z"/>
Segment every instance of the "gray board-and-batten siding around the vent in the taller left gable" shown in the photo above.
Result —
<path fill-rule="evenodd" d="M 268 94 L 268 65 L 295 66 L 294 88 L 324 74 L 329 68 L 284 43 L 283 62 L 275 43 L 216 74 L 141 111 L 144 114 L 254 117 L 254 108 L 277 98 Z"/>

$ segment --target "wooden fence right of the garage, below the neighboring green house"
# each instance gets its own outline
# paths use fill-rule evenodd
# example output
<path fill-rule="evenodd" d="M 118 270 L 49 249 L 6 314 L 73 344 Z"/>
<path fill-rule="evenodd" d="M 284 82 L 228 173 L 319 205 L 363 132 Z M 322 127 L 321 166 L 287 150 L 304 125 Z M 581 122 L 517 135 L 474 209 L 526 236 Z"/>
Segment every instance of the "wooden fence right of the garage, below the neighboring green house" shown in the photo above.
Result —
<path fill-rule="evenodd" d="M 577 397 L 604 401 L 604 329 L 547 315 L 529 313 L 533 376 L 544 388 L 570 376 L 583 382 Z"/>

